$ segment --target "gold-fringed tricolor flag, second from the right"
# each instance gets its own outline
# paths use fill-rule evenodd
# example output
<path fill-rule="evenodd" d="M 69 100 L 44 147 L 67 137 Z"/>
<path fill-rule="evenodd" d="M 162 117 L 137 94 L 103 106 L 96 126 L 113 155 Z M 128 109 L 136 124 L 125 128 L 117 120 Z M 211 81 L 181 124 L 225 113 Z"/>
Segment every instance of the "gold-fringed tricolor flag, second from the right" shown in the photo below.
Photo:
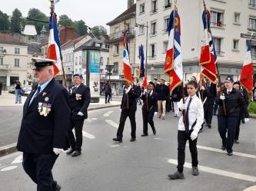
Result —
<path fill-rule="evenodd" d="M 204 76 L 212 82 L 216 81 L 216 60 L 217 54 L 214 48 L 214 41 L 210 31 L 210 12 L 203 12 L 202 19 L 204 24 L 204 38 L 202 40 L 201 55 L 199 64 L 203 68 L 201 71 Z"/>

